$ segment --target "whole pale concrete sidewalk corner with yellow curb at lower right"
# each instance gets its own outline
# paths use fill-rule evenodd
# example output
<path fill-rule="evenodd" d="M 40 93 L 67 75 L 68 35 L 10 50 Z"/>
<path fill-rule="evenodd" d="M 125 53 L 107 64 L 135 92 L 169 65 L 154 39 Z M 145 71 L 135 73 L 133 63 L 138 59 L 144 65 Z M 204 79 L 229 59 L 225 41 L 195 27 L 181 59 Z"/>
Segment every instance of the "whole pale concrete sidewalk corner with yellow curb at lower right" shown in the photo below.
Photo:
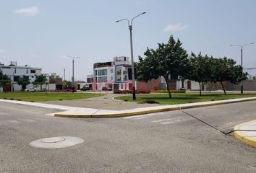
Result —
<path fill-rule="evenodd" d="M 234 136 L 239 140 L 247 143 L 249 146 L 256 147 L 256 120 L 242 123 L 234 127 Z M 255 131 L 239 131 L 255 130 Z"/>

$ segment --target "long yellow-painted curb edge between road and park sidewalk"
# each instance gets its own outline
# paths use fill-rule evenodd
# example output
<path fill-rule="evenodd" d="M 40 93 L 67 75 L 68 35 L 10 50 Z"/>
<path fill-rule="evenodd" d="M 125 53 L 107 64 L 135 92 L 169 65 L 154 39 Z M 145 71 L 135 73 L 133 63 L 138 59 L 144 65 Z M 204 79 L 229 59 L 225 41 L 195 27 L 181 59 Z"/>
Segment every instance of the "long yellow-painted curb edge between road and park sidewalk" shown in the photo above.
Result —
<path fill-rule="evenodd" d="M 61 114 L 61 112 L 56 112 L 54 114 L 55 117 L 75 117 L 75 118 L 101 118 L 101 117 L 128 117 L 128 116 L 133 116 L 133 115 L 142 115 L 142 114 L 149 114 L 149 113 L 155 113 L 155 112 L 166 112 L 166 111 L 171 111 L 171 110 L 179 110 L 179 109 L 190 109 L 190 108 L 195 108 L 195 107 L 208 107 L 208 106 L 214 106 L 214 105 L 224 105 L 224 104 L 229 104 L 229 103 L 236 103 L 236 102 L 247 102 L 247 101 L 252 101 L 256 100 L 255 97 L 249 97 L 248 99 L 242 99 L 242 100 L 230 100 L 225 99 L 223 101 L 225 102 L 209 102 L 208 104 L 203 104 L 203 105 L 184 105 L 180 106 L 176 105 L 177 107 L 169 107 L 169 108 L 162 108 L 158 110 L 142 110 L 142 111 L 137 111 L 137 112 L 126 112 L 126 113 L 113 113 L 113 114 L 101 114 L 101 115 L 76 115 L 76 114 L 70 114 L 70 115 L 65 115 Z M 132 111 L 132 110 L 131 110 Z"/>

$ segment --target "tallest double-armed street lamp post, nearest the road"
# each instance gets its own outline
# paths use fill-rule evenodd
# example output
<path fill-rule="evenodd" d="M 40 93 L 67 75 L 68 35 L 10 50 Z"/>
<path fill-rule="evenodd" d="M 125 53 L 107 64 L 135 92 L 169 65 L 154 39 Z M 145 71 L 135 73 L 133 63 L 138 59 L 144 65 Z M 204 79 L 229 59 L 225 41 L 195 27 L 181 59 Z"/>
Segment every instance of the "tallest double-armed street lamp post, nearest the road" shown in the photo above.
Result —
<path fill-rule="evenodd" d="M 139 17 L 142 14 L 145 14 L 146 12 L 142 12 L 141 14 L 135 16 L 132 18 L 131 23 L 129 22 L 129 19 L 120 19 L 117 20 L 116 22 L 121 22 L 123 20 L 127 20 L 128 22 L 128 28 L 129 28 L 129 40 L 130 40 L 130 45 L 131 45 L 131 58 L 132 58 L 132 98 L 133 100 L 136 99 L 136 95 L 135 95 L 135 65 L 134 65 L 134 61 L 133 61 L 133 48 L 132 48 L 132 22 L 136 17 Z"/>

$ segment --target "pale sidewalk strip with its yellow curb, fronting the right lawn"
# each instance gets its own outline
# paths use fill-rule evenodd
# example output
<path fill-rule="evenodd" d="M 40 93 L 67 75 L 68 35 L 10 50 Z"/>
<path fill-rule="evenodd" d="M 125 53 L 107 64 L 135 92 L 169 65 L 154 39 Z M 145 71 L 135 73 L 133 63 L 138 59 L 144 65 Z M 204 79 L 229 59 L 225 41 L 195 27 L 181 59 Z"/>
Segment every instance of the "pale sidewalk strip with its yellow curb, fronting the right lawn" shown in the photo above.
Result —
<path fill-rule="evenodd" d="M 182 105 L 162 105 L 156 107 L 143 107 L 132 110 L 95 110 L 95 109 L 85 109 L 80 110 L 68 110 L 64 112 L 56 112 L 54 116 L 56 117 L 80 117 L 80 118 L 90 118 L 90 117 L 125 117 L 132 115 L 142 115 L 154 112 L 164 112 L 170 110 L 180 110 L 189 109 L 193 107 L 208 107 L 213 105 L 223 105 L 235 102 L 246 102 L 256 100 L 256 97 L 247 97 L 241 99 L 226 99 L 213 102 L 197 102 L 197 103 L 187 103 Z"/>

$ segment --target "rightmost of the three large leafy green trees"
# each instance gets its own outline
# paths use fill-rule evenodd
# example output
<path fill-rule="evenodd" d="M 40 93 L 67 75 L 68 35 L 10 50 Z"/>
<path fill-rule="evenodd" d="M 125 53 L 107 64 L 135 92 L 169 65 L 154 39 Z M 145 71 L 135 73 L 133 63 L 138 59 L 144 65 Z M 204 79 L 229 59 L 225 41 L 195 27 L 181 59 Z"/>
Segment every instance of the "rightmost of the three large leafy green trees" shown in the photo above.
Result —
<path fill-rule="evenodd" d="M 221 83 L 223 92 L 226 94 L 223 81 L 230 81 L 232 84 L 247 79 L 247 72 L 244 73 L 242 66 L 236 65 L 236 61 L 230 58 L 216 58 L 213 61 L 213 82 Z"/>

